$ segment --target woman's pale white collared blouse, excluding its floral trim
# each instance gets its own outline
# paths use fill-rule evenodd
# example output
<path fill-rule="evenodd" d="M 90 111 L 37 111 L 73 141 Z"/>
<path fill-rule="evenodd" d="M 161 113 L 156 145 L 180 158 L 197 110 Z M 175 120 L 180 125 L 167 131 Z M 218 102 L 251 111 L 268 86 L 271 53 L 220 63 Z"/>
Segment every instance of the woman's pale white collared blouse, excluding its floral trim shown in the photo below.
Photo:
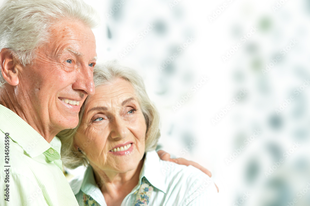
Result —
<path fill-rule="evenodd" d="M 147 152 L 139 183 L 123 200 L 121 206 L 134 205 L 134 194 L 145 177 L 154 188 L 149 204 L 152 206 L 209 206 L 218 205 L 218 194 L 212 179 L 193 166 L 178 165 L 161 160 L 155 151 Z M 91 196 L 98 205 L 106 206 L 104 196 L 95 183 L 93 170 L 89 166 L 84 177 L 74 178 L 70 182 L 78 204 L 87 205 L 83 193 Z M 84 195 L 85 196 L 85 195 Z"/>

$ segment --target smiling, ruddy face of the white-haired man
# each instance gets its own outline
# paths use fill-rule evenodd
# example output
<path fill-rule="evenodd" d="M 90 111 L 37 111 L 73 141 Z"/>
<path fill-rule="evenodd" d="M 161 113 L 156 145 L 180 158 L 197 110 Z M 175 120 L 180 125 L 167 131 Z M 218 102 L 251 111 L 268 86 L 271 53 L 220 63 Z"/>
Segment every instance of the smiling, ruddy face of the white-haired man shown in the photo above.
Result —
<path fill-rule="evenodd" d="M 51 39 L 39 47 L 33 65 L 21 72 L 20 104 L 28 104 L 44 127 L 74 128 L 82 103 L 95 92 L 95 36 L 84 24 L 70 20 L 54 24 L 50 32 Z"/>

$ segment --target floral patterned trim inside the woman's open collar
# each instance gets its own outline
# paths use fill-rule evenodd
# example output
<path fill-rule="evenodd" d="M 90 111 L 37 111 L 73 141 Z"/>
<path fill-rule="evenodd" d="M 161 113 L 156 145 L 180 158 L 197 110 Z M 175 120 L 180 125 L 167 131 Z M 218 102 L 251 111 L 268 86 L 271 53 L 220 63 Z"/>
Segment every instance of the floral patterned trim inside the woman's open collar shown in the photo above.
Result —
<path fill-rule="evenodd" d="M 147 206 L 153 192 L 153 186 L 143 177 L 141 186 L 135 192 L 136 200 L 134 206 Z M 90 196 L 83 193 L 84 206 L 99 206 L 99 204 Z"/>

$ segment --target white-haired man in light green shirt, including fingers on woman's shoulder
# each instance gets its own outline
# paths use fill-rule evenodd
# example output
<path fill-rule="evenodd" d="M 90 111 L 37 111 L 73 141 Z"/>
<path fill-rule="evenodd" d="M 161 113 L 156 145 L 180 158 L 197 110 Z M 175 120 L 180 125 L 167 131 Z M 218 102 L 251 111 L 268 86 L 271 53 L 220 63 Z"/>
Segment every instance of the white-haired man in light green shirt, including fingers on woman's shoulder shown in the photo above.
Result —
<path fill-rule="evenodd" d="M 0 205 L 78 205 L 55 135 L 95 92 L 99 17 L 82 0 L 8 0 L 0 14 Z"/>

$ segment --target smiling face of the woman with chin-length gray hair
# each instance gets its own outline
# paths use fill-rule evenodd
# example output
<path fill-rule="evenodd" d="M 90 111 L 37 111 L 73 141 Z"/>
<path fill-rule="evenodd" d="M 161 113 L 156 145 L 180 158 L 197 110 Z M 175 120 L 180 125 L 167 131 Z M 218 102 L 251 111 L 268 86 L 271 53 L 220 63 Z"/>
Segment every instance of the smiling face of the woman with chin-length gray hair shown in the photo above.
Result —
<path fill-rule="evenodd" d="M 146 123 L 134 88 L 121 78 L 89 97 L 74 144 L 93 168 L 113 172 L 135 169 L 145 151 Z"/>

